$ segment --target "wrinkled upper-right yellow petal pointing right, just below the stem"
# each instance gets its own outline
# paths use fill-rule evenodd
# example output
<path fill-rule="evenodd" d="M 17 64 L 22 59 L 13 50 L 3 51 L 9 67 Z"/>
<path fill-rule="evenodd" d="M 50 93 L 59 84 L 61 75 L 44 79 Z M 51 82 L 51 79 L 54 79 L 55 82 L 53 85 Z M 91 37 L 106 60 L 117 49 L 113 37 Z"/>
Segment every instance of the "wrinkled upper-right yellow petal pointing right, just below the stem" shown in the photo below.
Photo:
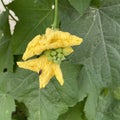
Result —
<path fill-rule="evenodd" d="M 45 35 L 47 36 L 47 40 L 50 41 L 50 48 L 56 48 L 56 45 L 57 47 L 80 45 L 83 41 L 82 38 L 79 38 L 75 35 L 71 35 L 68 32 L 52 30 L 50 28 L 47 28 Z"/>

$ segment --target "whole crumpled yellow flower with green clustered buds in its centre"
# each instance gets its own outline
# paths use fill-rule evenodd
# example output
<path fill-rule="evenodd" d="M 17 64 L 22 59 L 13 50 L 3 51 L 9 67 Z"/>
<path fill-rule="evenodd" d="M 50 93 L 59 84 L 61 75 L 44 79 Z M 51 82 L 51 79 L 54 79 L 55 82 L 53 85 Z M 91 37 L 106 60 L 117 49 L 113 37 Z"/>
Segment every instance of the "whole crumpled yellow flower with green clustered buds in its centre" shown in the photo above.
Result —
<path fill-rule="evenodd" d="M 44 35 L 37 35 L 30 41 L 22 57 L 24 61 L 17 64 L 39 74 L 40 88 L 44 88 L 53 76 L 63 85 L 60 63 L 73 52 L 71 46 L 80 45 L 82 41 L 68 32 L 47 28 Z M 39 58 L 27 60 L 35 55 Z"/>

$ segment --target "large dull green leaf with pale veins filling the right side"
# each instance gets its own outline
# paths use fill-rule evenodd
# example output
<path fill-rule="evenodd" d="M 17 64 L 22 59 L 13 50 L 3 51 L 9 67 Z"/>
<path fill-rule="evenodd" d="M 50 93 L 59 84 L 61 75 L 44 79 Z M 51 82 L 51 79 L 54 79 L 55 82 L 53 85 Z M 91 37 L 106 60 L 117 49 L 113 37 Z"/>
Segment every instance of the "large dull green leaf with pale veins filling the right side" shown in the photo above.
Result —
<path fill-rule="evenodd" d="M 68 2 L 64 3 L 66 7 L 62 4 L 61 28 L 84 39 L 70 58 L 75 63 L 83 64 L 79 77 L 79 100 L 87 96 L 84 108 L 86 117 L 88 120 L 96 120 L 101 91 L 112 91 L 113 87 L 115 89 L 120 86 L 120 0 L 101 1 L 99 9 L 90 7 L 82 17 Z M 106 105 L 105 109 L 100 109 L 101 115 L 97 117 L 99 120 L 105 119 L 107 107 L 112 109 L 111 100 L 106 100 L 104 96 L 103 99 L 104 106 L 109 102 L 111 106 Z"/>

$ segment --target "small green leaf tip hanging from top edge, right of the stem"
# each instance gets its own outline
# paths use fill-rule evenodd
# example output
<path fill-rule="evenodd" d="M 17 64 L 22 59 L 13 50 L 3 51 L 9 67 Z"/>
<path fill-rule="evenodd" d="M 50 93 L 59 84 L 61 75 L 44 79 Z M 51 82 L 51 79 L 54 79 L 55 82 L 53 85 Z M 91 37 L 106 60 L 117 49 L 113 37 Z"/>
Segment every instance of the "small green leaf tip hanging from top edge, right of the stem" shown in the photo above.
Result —
<path fill-rule="evenodd" d="M 91 0 L 69 0 L 70 4 L 83 15 L 88 9 Z"/>

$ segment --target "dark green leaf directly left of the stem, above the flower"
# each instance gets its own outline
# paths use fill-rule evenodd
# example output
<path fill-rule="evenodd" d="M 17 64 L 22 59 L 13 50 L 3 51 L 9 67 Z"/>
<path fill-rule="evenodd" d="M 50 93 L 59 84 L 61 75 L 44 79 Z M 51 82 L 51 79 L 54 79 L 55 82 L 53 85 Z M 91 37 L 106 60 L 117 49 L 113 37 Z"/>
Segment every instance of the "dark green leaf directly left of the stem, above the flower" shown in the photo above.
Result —
<path fill-rule="evenodd" d="M 46 27 L 51 27 L 53 2 L 53 0 L 14 0 L 8 6 L 19 19 L 12 36 L 14 54 L 22 54 L 33 37 L 44 33 Z"/>

